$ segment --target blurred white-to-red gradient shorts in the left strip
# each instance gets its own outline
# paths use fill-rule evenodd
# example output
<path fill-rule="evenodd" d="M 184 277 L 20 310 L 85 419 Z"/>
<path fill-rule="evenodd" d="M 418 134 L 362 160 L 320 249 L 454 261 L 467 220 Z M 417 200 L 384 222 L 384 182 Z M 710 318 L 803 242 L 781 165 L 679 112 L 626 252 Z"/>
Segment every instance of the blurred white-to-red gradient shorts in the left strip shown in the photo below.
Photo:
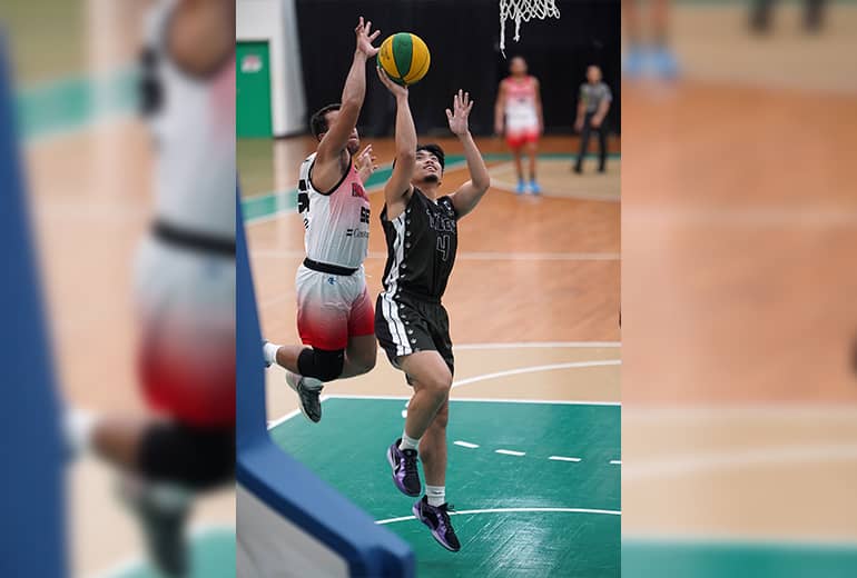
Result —
<path fill-rule="evenodd" d="M 235 258 L 147 238 L 136 293 L 148 406 L 190 426 L 234 425 Z"/>

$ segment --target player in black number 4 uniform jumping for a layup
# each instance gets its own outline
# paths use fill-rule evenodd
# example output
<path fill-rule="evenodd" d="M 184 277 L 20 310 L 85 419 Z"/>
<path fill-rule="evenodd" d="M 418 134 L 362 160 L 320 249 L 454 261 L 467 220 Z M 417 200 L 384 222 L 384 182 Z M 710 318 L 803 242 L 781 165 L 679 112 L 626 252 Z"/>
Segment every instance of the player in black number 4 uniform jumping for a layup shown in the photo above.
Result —
<path fill-rule="evenodd" d="M 418 146 L 407 102 L 407 88 L 378 69 L 396 98 L 396 160 L 384 187 L 381 213 L 387 242 L 384 291 L 375 308 L 375 335 L 394 367 L 405 372 L 414 395 L 402 437 L 387 449 L 393 481 L 407 496 L 422 494 L 417 456 L 425 469 L 425 496 L 413 512 L 447 550 L 461 545 L 446 504 L 446 421 L 454 360 L 450 320 L 441 297 L 455 262 L 459 220 L 491 186 L 487 168 L 467 129 L 473 108 L 459 91 L 446 109 L 450 130 L 461 140 L 471 180 L 441 196 L 444 153 L 436 144 Z"/>

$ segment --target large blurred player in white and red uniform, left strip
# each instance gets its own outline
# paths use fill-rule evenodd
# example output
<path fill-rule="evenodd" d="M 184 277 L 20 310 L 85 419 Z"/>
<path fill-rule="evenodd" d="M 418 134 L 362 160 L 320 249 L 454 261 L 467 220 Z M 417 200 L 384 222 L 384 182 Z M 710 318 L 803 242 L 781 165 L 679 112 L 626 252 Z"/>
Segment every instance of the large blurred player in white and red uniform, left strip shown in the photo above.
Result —
<path fill-rule="evenodd" d="M 235 3 L 177 0 L 147 21 L 141 107 L 155 208 L 136 263 L 138 375 L 157 417 L 67 415 L 71 450 L 121 472 L 154 564 L 189 571 L 193 496 L 235 471 Z"/>

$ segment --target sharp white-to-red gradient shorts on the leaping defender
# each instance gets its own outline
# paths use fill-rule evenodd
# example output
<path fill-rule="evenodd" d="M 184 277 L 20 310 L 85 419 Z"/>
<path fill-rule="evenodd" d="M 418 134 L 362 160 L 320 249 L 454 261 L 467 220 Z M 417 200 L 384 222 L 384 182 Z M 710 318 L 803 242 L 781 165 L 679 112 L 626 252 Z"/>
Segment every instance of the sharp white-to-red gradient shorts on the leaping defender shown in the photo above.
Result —
<path fill-rule="evenodd" d="M 375 333 L 366 276 L 361 267 L 353 275 L 331 275 L 298 267 L 297 331 L 306 346 L 335 351 L 345 349 L 352 337 Z"/>

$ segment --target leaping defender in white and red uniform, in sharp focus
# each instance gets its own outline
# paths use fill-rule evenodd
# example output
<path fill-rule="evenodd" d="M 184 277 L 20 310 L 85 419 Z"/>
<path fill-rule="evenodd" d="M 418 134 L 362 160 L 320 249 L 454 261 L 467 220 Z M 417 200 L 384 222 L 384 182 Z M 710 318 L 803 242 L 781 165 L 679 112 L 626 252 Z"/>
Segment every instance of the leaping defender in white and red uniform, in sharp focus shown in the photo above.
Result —
<path fill-rule="evenodd" d="M 324 382 L 354 377 L 375 367 L 377 345 L 372 300 L 363 261 L 368 250 L 370 200 L 354 167 L 359 149 L 357 117 L 366 93 L 366 60 L 380 31 L 363 17 L 355 29 L 357 48 L 342 93 L 342 103 L 313 114 L 316 151 L 301 165 L 297 210 L 304 219 L 306 259 L 297 270 L 297 329 L 303 346 L 265 342 L 265 361 L 286 369 L 301 410 L 322 419 Z M 362 163 L 372 165 L 371 150 Z M 361 171 L 362 172 L 362 171 Z"/>

